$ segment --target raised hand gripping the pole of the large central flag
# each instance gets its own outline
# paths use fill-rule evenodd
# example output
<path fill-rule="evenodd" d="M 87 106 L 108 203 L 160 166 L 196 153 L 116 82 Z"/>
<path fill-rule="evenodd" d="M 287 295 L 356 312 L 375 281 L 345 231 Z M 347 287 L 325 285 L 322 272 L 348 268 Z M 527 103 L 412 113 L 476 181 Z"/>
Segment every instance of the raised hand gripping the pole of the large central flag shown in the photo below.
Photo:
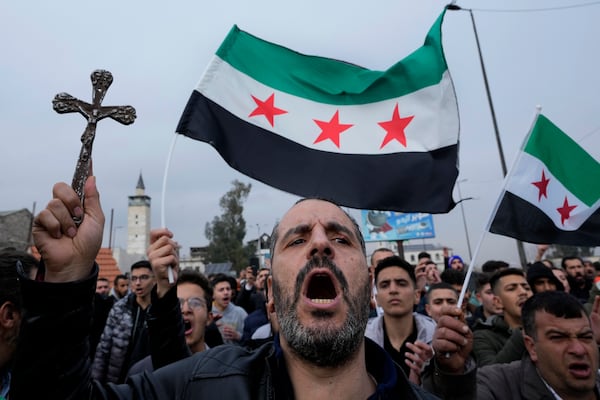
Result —
<path fill-rule="evenodd" d="M 173 240 L 173 232 L 167 228 L 150 231 L 150 246 L 146 251 L 148 261 L 156 278 L 156 292 L 162 298 L 177 282 L 179 272 L 179 245 Z M 169 268 L 173 268 L 173 283 L 169 282 Z"/>

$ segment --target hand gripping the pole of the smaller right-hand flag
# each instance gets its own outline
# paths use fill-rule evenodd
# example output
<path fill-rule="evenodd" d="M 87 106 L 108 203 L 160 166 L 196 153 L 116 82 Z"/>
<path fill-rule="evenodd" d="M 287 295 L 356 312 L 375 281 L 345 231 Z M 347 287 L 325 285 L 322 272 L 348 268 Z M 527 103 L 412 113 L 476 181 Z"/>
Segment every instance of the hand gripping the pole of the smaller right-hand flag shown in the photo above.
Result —
<path fill-rule="evenodd" d="M 445 306 L 442 313 L 432 341 L 436 362 L 446 372 L 463 373 L 473 350 L 473 332 L 461 309 Z"/>

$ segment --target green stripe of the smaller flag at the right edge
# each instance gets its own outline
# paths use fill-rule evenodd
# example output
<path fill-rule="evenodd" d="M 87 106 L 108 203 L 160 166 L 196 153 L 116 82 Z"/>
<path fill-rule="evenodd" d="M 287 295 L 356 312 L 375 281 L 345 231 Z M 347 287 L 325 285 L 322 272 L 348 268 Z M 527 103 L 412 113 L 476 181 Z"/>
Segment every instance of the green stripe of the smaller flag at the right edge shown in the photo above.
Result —
<path fill-rule="evenodd" d="M 600 163 L 548 118 L 538 116 L 523 150 L 542 161 L 588 207 L 600 199 Z"/>

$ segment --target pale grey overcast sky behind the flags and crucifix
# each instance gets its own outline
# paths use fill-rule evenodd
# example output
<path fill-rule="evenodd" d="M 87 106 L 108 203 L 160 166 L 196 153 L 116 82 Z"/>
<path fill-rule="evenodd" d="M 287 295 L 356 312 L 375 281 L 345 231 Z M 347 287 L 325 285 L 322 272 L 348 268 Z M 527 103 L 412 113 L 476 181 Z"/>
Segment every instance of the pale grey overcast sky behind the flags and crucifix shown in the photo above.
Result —
<path fill-rule="evenodd" d="M 51 102 L 59 92 L 90 101 L 89 76 L 95 69 L 114 76 L 104 104 L 131 104 L 138 116 L 131 126 L 101 121 L 94 145 L 94 172 L 107 216 L 103 245 L 108 245 L 113 209 L 116 242 L 124 247 L 127 196 L 134 194 L 140 171 L 152 197 L 152 225 L 161 224 L 163 176 L 175 127 L 232 25 L 296 51 L 386 69 L 422 45 L 446 3 L 1 2 L 0 210 L 35 204 L 39 212 L 55 182 L 71 181 L 85 120 L 57 114 Z M 600 159 L 600 2 L 457 4 L 473 8 L 509 168 L 536 105 Z M 584 6 L 563 8 L 573 4 Z M 463 203 L 474 250 L 499 196 L 502 169 L 469 13 L 448 12 L 443 34 L 461 119 L 460 189 L 463 198 L 474 198 Z M 270 232 L 297 199 L 234 171 L 208 144 L 184 137 L 177 139 L 167 179 L 164 218 L 183 254 L 190 246 L 207 244 L 205 224 L 220 214 L 219 198 L 234 179 L 253 185 L 244 211 L 248 240 L 259 231 Z M 434 216 L 434 223 L 436 238 L 426 243 L 449 246 L 468 260 L 461 208 Z M 534 246 L 526 245 L 526 251 L 533 257 Z M 515 241 L 485 235 L 478 260 L 491 258 L 516 265 Z"/>

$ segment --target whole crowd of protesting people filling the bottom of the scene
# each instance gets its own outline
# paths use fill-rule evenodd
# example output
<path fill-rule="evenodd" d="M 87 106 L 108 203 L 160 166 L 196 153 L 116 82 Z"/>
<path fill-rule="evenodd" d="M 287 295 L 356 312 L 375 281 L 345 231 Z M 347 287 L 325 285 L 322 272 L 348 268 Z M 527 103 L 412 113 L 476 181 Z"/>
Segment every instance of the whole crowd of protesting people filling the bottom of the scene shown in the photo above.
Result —
<path fill-rule="evenodd" d="M 5 399 L 600 398 L 600 265 L 580 257 L 555 266 L 539 246 L 465 282 L 459 256 L 367 254 L 347 212 L 304 199 L 273 230 L 271 268 L 180 271 L 160 228 L 109 282 L 94 177 L 85 193 L 83 208 L 54 186 L 33 226 L 41 261 L 0 252 Z"/>

